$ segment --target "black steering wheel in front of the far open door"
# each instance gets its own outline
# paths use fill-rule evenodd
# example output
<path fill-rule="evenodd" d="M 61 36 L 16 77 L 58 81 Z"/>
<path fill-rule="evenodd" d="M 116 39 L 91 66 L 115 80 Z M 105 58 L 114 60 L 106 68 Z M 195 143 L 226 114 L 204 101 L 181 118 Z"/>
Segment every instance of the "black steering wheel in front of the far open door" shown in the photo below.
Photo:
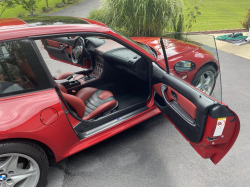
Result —
<path fill-rule="evenodd" d="M 89 57 L 90 54 L 88 50 L 85 48 L 84 39 L 80 36 L 76 37 L 72 51 L 71 51 L 71 60 L 74 64 L 78 64 L 81 62 L 83 58 Z"/>

